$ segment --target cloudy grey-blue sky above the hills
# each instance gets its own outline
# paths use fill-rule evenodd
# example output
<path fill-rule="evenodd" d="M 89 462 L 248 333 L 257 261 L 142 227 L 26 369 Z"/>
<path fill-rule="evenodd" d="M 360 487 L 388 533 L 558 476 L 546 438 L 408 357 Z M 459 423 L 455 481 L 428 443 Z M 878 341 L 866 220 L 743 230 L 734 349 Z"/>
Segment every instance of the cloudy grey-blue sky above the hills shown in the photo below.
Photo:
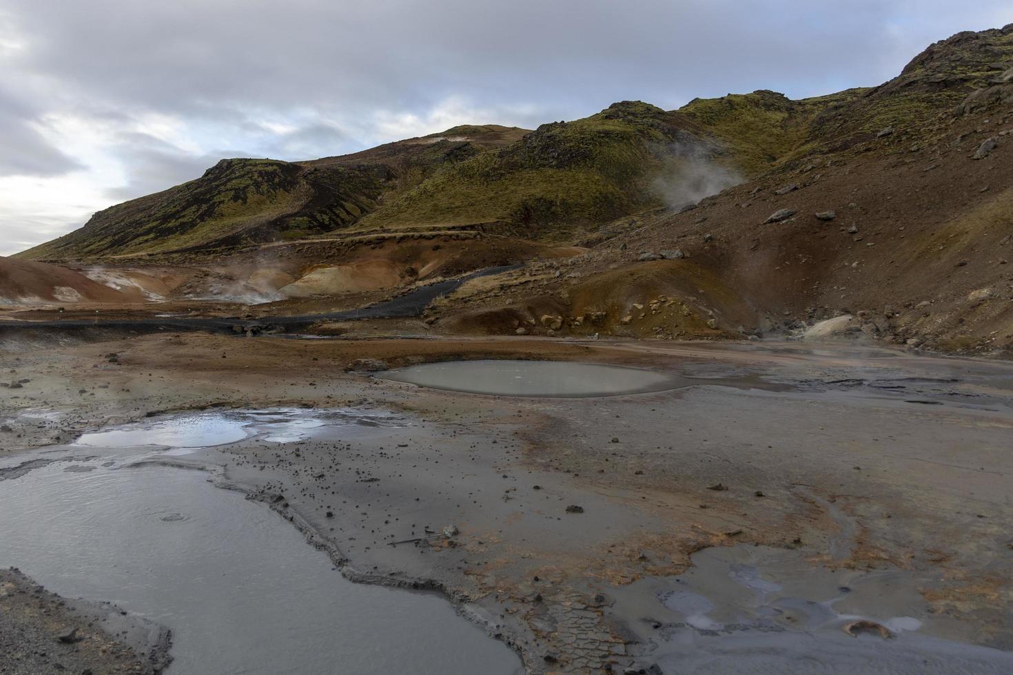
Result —
<path fill-rule="evenodd" d="M 0 0 L 0 255 L 223 157 L 870 86 L 1009 0 Z"/>

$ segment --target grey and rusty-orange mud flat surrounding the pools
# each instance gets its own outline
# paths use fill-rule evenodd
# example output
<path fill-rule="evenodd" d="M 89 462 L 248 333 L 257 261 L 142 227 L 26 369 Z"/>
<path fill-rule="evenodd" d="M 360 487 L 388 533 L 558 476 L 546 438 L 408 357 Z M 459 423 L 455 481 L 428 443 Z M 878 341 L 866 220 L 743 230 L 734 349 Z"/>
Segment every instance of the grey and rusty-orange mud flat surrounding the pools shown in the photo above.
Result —
<path fill-rule="evenodd" d="M 1008 670 L 1009 363 L 788 343 L 192 335 L 8 344 L 4 357 L 28 382 L 0 393 L 3 466 L 21 474 L 0 495 L 46 472 L 87 476 L 22 466 L 62 456 L 33 453 L 57 439 L 304 411 L 277 434 L 240 424 L 211 448 L 149 451 L 244 486 L 352 579 L 446 594 L 530 672 L 909 672 L 898 664 L 916 653 L 928 672 Z M 607 363 L 687 385 L 479 395 L 345 371 L 363 357 Z M 149 470 L 208 478 L 130 471 Z"/>

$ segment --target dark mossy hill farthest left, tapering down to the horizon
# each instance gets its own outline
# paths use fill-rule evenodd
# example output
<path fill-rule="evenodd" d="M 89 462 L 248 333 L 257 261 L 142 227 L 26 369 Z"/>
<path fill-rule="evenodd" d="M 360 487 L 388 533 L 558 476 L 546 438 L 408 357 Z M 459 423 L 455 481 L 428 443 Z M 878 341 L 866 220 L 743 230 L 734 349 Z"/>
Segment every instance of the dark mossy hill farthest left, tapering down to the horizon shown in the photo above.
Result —
<path fill-rule="evenodd" d="M 494 124 L 457 126 L 343 157 L 225 159 L 196 180 L 98 212 L 81 229 L 19 256 L 67 260 L 216 252 L 320 236 L 358 222 L 382 195 L 416 184 L 442 165 L 524 133 Z"/>

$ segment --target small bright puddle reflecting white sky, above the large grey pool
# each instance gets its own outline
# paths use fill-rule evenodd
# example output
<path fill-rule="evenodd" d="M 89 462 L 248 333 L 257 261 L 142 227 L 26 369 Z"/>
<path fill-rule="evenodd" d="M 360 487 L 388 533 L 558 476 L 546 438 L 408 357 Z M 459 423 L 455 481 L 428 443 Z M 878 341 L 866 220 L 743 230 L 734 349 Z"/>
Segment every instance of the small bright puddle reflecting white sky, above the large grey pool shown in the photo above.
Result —
<path fill-rule="evenodd" d="M 309 438 L 314 429 L 327 425 L 396 424 L 397 417 L 385 411 L 353 409 L 227 410 L 154 417 L 82 434 L 75 445 L 88 447 L 168 447 L 166 454 L 188 454 L 194 448 L 227 445 L 247 438 L 272 443 L 291 443 Z"/>

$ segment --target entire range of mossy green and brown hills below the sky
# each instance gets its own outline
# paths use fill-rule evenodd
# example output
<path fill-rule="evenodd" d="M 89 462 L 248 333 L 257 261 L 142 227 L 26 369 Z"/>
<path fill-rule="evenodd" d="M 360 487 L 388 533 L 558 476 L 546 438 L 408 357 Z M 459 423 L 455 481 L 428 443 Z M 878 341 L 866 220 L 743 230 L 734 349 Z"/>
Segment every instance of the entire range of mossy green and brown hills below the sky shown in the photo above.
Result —
<path fill-rule="evenodd" d="M 1013 349 L 1011 176 L 1013 24 L 931 45 L 878 86 L 803 100 L 621 101 L 533 132 L 468 125 L 307 162 L 225 160 L 19 257 L 169 264 L 182 251 L 214 266 L 245 250 L 256 266 L 250 244 L 302 242 L 292 278 L 322 264 L 343 279 L 382 255 L 395 285 L 524 263 L 465 284 L 430 325 L 719 338 L 834 319 L 845 335 L 1001 351 Z M 448 247 L 453 259 L 434 262 Z"/>

